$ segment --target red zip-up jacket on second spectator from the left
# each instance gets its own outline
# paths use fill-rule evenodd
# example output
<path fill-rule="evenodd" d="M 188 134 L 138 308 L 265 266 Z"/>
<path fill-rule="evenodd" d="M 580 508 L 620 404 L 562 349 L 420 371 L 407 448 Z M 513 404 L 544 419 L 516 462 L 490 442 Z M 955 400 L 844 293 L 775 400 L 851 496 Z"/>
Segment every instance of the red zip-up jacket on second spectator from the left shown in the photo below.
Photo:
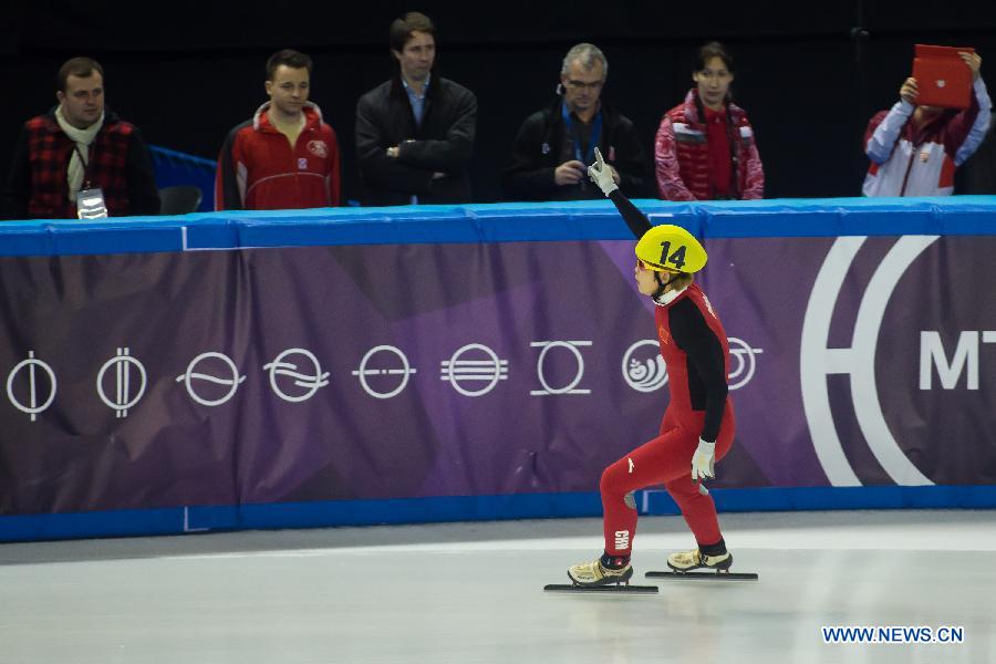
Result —
<path fill-rule="evenodd" d="M 274 210 L 339 205 L 340 158 L 335 132 L 312 103 L 293 149 L 270 124 L 267 102 L 251 122 L 234 128 L 218 157 L 216 210 Z"/>

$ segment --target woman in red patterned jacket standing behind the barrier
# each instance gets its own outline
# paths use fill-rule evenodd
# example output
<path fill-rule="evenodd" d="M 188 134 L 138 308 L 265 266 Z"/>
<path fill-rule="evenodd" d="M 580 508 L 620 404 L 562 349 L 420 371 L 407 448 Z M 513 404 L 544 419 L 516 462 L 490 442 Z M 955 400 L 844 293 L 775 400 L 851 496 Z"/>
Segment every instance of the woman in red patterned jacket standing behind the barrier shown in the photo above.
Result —
<path fill-rule="evenodd" d="M 666 200 L 764 198 L 765 172 L 747 113 L 730 101 L 734 62 L 719 42 L 698 50 L 695 87 L 664 114 L 654 141 Z"/>

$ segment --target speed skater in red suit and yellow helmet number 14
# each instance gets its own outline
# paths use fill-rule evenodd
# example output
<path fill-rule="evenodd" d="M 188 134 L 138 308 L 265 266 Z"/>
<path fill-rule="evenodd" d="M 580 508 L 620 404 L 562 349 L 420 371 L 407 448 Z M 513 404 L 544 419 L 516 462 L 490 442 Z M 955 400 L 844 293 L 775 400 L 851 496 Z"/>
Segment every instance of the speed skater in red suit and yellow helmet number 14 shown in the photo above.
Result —
<path fill-rule="evenodd" d="M 629 581 L 636 533 L 636 506 L 631 494 L 656 484 L 663 484 L 674 498 L 698 544 L 671 554 L 668 567 L 679 572 L 728 570 L 733 556 L 719 531 L 713 498 L 702 484 L 715 477 L 715 463 L 729 452 L 736 430 L 728 396 L 726 332 L 694 279 L 694 273 L 705 267 L 705 248 L 679 226 L 651 226 L 619 190 L 600 152 L 588 172 L 640 238 L 633 276 L 637 290 L 656 304 L 654 321 L 667 365 L 671 403 L 657 437 L 602 474 L 599 489 L 604 510 L 604 553 L 592 562 L 573 566 L 568 577 L 575 585 Z"/>

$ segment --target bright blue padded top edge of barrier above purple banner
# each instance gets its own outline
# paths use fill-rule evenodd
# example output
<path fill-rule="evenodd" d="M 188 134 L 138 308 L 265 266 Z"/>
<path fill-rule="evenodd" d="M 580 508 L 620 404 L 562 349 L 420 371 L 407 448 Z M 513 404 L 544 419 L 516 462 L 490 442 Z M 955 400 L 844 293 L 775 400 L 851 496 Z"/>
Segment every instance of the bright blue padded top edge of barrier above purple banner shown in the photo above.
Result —
<path fill-rule="evenodd" d="M 704 238 L 996 235 L 996 196 L 634 203 Z M 631 239 L 611 201 L 584 200 L 12 221 L 0 224 L 0 256 Z"/>

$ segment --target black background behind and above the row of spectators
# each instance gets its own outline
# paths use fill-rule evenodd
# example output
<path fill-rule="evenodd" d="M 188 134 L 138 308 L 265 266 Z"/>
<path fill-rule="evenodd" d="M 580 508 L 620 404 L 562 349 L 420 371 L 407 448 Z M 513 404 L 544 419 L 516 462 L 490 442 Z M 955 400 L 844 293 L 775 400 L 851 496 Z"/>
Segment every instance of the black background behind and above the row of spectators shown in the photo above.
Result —
<path fill-rule="evenodd" d="M 315 61 L 311 98 L 339 134 L 354 198 L 355 103 L 390 75 L 387 29 L 412 9 L 436 23 L 437 73 L 477 94 L 477 201 L 502 199 L 498 173 L 516 131 L 552 100 L 561 60 L 580 41 L 605 52 L 603 94 L 636 123 L 649 164 L 661 115 L 692 86 L 696 48 L 726 43 L 771 198 L 860 194 L 865 124 L 898 98 L 913 44 L 975 46 L 990 91 L 996 68 L 992 1 L 35 1 L 0 25 L 0 181 L 21 123 L 54 104 L 55 72 L 73 55 L 101 62 L 108 106 L 151 144 L 214 159 L 228 129 L 266 100 L 267 56 L 287 46 Z"/>

